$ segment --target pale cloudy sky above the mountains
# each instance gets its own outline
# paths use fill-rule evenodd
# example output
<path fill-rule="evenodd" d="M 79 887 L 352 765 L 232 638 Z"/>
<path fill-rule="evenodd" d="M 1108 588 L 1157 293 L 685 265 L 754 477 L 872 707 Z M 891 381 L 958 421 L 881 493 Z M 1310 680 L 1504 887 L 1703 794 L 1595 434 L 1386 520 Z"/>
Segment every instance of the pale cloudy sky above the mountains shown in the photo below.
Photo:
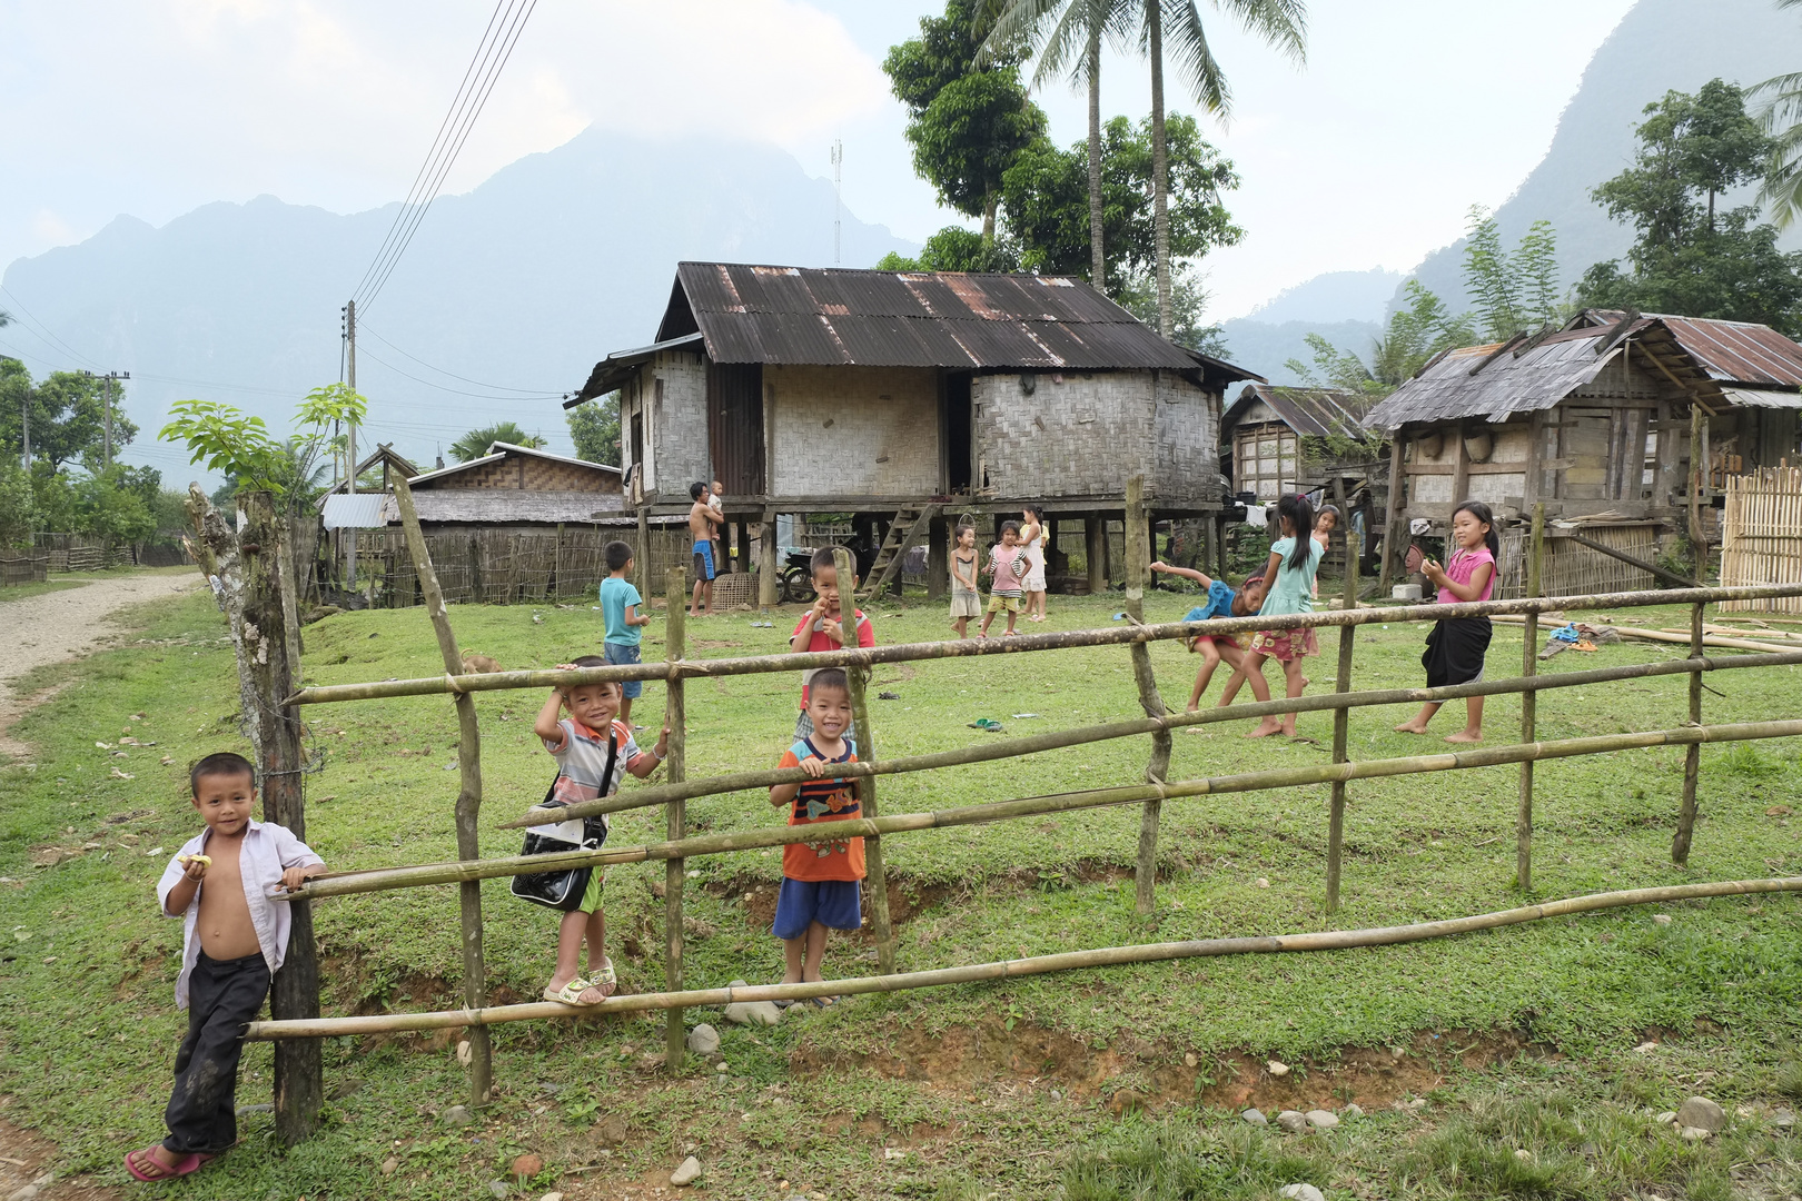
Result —
<path fill-rule="evenodd" d="M 957 218 L 912 175 L 881 58 L 937 7 L 541 0 L 447 189 L 589 122 L 762 139 L 822 176 L 838 137 L 847 207 L 921 239 Z M 1461 232 L 1469 205 L 1505 200 L 1631 0 L 1314 0 L 1305 67 L 1202 7 L 1236 94 L 1231 124 L 1207 131 L 1245 178 L 1229 207 L 1247 238 L 1207 263 L 1224 319 L 1319 272 L 1406 270 Z M 490 13 L 0 0 L 0 265 L 119 212 L 162 223 L 261 193 L 339 212 L 398 200 Z M 1106 115 L 1148 112 L 1141 61 L 1112 58 L 1103 81 Z M 1079 95 L 1054 86 L 1040 103 L 1060 142 L 1083 137 Z"/>

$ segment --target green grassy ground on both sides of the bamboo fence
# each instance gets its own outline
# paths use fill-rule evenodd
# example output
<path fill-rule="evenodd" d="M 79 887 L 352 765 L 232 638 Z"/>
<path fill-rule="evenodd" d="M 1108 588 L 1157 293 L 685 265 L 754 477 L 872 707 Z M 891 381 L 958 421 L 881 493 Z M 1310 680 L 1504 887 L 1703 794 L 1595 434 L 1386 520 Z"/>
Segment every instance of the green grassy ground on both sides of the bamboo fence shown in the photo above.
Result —
<path fill-rule="evenodd" d="M 1153 594 L 1148 616 L 1189 596 Z M 878 639 L 946 636 L 937 605 L 872 609 Z M 1054 598 L 1038 628 L 1110 625 L 1117 598 Z M 1651 627 L 1687 614 L 1640 610 Z M 690 623 L 692 655 L 780 650 L 750 614 Z M 460 607 L 460 645 L 508 668 L 598 654 L 587 605 Z M 229 645 L 205 596 L 146 607 L 121 650 L 40 672 L 67 684 L 16 736 L 36 767 L 0 772 L 0 1116 L 41 1129 L 68 1163 L 124 1181 L 119 1156 L 159 1133 L 180 1032 L 171 1003 L 180 927 L 155 915 L 168 853 L 198 823 L 186 763 L 240 747 Z M 1357 686 L 1420 682 L 1425 627 L 1364 627 Z M 1314 677 L 1324 684 L 1335 634 Z M 1497 627 L 1492 673 L 1512 673 L 1519 628 Z M 645 655 L 661 654 L 661 623 Z M 1544 670 L 1642 663 L 1647 645 L 1566 654 Z M 1180 704 L 1195 659 L 1151 648 L 1166 699 Z M 422 610 L 341 614 L 306 628 L 310 682 L 431 675 L 440 668 Z M 1710 722 L 1802 711 L 1797 668 L 1708 677 Z M 964 745 L 993 735 L 1137 715 L 1124 648 L 890 666 L 872 700 L 881 753 Z M 1218 684 L 1216 684 L 1218 690 Z M 652 726 L 661 686 L 634 720 Z M 688 686 L 690 776 L 773 765 L 789 740 L 796 681 L 732 677 Z M 483 693 L 483 853 L 515 853 L 494 830 L 539 799 L 553 774 L 532 736 L 539 693 Z M 1683 722 L 1678 677 L 1557 690 L 1541 736 Z M 1440 745 L 1389 727 L 1404 713 L 1352 715 L 1353 758 Z M 1461 724 L 1461 704 L 1440 733 Z M 456 722 L 445 699 L 319 706 L 306 713 L 319 771 L 308 781 L 308 841 L 333 868 L 452 855 Z M 1179 733 L 1175 778 L 1324 762 L 1328 715 L 1303 715 L 1303 740 L 1247 742 L 1251 726 Z M 1488 740 L 1512 742 L 1517 699 L 1492 699 Z M 121 736 L 139 745 L 121 744 Z M 110 745 L 99 747 L 96 744 Z M 155 744 L 155 745 L 142 745 Z M 885 814 L 1006 799 L 1139 778 L 1148 740 L 1117 740 L 937 774 L 883 778 Z M 162 760 L 169 762 L 164 763 Z M 1535 897 L 1703 879 L 1795 875 L 1802 760 L 1788 742 L 1703 749 L 1703 819 L 1687 870 L 1670 866 L 1681 749 L 1539 767 Z M 652 783 L 660 776 L 652 778 Z M 642 787 L 629 783 L 629 787 Z M 896 835 L 905 969 L 1213 935 L 1350 929 L 1521 904 L 1514 889 L 1515 769 L 1359 781 L 1350 789 L 1342 908 L 1323 915 L 1326 789 L 1168 803 L 1159 908 L 1133 913 L 1137 808 Z M 697 830 L 768 825 L 760 794 L 688 803 Z M 663 816 L 616 816 L 620 843 L 661 837 Z M 54 866 L 32 866 L 59 859 Z M 687 978 L 773 981 L 768 935 L 780 859 L 769 852 L 690 861 Z M 661 864 L 607 879 L 609 945 L 625 990 L 661 987 Z M 485 886 L 490 985 L 535 998 L 550 974 L 553 924 Z M 496 1028 L 499 1100 L 472 1127 L 440 1125 L 465 1100 L 454 1037 L 332 1039 L 324 1133 L 276 1154 L 268 1116 L 247 1115 L 245 1145 L 186 1181 L 196 1197 L 467 1197 L 510 1181 L 514 1156 L 542 1156 L 519 1196 L 643 1196 L 690 1151 L 703 1190 L 723 1197 L 1269 1197 L 1312 1181 L 1337 1197 L 1786 1197 L 1802 1190 L 1798 1140 L 1771 1124 L 1797 1107 L 1802 1068 L 1802 906 L 1795 897 L 1622 909 L 1409 947 L 1308 956 L 1191 960 L 1042 976 L 1007 985 L 860 998 L 791 1010 L 775 1028 L 723 1028 L 715 1062 L 690 1057 L 670 1082 L 649 1070 L 661 1016 Z M 1654 920 L 1667 917 L 1669 922 Z M 456 900 L 449 888 L 321 902 L 326 1010 L 456 1005 Z M 863 942 L 834 942 L 827 974 L 874 971 Z M 694 1014 L 714 1021 L 717 1014 Z M 1645 1048 L 1647 1043 L 1654 1046 Z M 1267 1061 L 1292 1071 L 1278 1077 Z M 245 1059 L 241 1104 L 267 1100 L 270 1052 Z M 1690 1093 L 1734 1115 L 1728 1131 L 1683 1143 L 1652 1115 Z M 1786 1100 L 1786 1097 L 1789 1100 Z M 1238 1116 L 1359 1104 L 1332 1134 L 1254 1131 Z M 1425 1102 L 1409 1107 L 1407 1102 Z M 1524 1154 L 1517 1154 L 1524 1152 Z M 391 1163 L 389 1163 L 391 1161 Z M 382 1167 L 389 1165 L 391 1174 Z M 577 1170 L 584 1169 L 584 1170 Z M 155 1190 L 150 1190 L 155 1192 Z"/>

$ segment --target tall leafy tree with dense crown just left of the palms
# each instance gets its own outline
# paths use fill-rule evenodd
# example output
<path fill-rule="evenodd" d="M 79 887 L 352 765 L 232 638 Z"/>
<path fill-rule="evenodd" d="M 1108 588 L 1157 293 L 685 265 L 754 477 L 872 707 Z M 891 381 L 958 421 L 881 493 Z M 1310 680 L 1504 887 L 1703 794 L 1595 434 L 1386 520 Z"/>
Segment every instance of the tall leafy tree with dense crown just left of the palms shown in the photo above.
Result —
<path fill-rule="evenodd" d="M 987 54 L 986 22 L 971 0 L 948 0 L 944 16 L 924 16 L 919 38 L 883 59 L 896 99 L 906 104 L 914 171 L 939 202 L 982 218 L 995 239 L 1002 175 L 1045 131 L 1045 113 L 1020 83 L 1018 52 Z"/>

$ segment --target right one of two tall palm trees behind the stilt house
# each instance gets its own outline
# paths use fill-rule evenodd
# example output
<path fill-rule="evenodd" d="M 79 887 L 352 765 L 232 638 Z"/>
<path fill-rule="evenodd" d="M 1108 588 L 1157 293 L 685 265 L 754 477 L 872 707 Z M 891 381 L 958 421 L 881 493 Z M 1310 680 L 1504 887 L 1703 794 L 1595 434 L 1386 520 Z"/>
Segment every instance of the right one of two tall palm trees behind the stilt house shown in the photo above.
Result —
<path fill-rule="evenodd" d="M 1802 0 L 1784 0 L 1802 4 Z M 1157 247 L 1157 324 L 1169 337 L 1169 151 L 1164 140 L 1164 32 L 1171 36 L 1177 70 L 1195 101 L 1207 112 L 1233 115 L 1233 90 L 1202 27 L 1195 0 L 1142 0 L 1139 47 L 1151 59 L 1151 223 Z M 1245 31 L 1261 36 L 1297 63 L 1308 56 L 1308 5 L 1305 0 L 1209 0 Z M 1168 20 L 1166 20 L 1168 18 Z"/>

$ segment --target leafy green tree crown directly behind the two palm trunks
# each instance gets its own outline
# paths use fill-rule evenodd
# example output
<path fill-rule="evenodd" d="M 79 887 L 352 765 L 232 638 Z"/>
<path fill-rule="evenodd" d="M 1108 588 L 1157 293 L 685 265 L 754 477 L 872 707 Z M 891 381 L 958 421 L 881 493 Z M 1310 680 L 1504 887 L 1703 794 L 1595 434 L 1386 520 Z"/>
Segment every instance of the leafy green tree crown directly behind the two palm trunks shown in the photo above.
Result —
<path fill-rule="evenodd" d="M 1200 133 L 1193 117 L 1166 122 L 1171 205 L 1166 248 L 1177 259 L 1195 259 L 1245 236 L 1233 223 L 1220 193 L 1238 187 L 1238 173 Z M 1105 279 L 1119 299 L 1130 279 L 1151 277 L 1155 297 L 1157 227 L 1151 211 L 1151 122 L 1137 126 L 1114 117 L 1103 130 L 1101 198 Z M 1002 193 L 1007 229 L 1020 239 L 1020 261 L 1029 270 L 1092 275 L 1085 148 L 1063 151 L 1040 139 L 1009 167 Z M 1191 286 L 1193 292 L 1193 286 Z"/>

